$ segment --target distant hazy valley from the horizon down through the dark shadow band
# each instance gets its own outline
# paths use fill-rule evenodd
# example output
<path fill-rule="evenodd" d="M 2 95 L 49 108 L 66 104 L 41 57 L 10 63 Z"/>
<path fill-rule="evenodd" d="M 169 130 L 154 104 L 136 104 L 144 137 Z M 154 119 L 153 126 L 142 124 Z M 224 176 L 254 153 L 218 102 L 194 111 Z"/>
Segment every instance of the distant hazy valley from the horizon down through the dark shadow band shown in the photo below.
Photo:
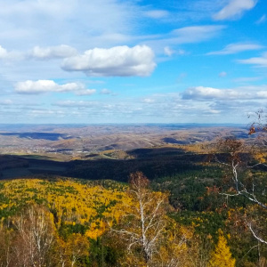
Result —
<path fill-rule="evenodd" d="M 244 125 L 1 125 L 0 175 L 127 181 L 140 170 L 154 178 L 203 160 L 194 150 L 226 136 L 249 138 Z"/>

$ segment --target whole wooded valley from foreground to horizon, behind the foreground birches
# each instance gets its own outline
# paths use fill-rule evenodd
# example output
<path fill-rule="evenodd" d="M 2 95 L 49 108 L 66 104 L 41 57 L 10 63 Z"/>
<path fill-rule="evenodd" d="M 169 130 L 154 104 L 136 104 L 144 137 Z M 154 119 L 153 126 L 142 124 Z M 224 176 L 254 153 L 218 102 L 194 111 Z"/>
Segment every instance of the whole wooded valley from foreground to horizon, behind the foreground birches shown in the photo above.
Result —
<path fill-rule="evenodd" d="M 1 125 L 0 129 L 0 217 L 4 229 L 0 236 L 7 239 L 12 229 L 12 246 L 18 249 L 23 249 L 16 243 L 20 229 L 10 220 L 20 222 L 21 211 L 26 220 L 30 219 L 28 212 L 37 217 L 41 213 L 45 222 L 53 225 L 50 234 L 54 242 L 47 259 L 54 266 L 60 266 L 54 255 L 66 246 L 74 246 L 73 253 L 79 259 L 75 266 L 121 266 L 128 259 L 137 259 L 140 262 L 134 266 L 143 266 L 140 246 L 129 255 L 123 237 L 115 235 L 115 243 L 111 238 L 116 231 L 124 232 L 120 227 L 132 225 L 132 231 L 140 223 L 132 217 L 133 221 L 125 219 L 129 206 L 135 210 L 137 205 L 133 202 L 137 201 L 132 192 L 134 175 L 145 182 L 145 196 L 157 196 L 148 203 L 157 205 L 157 199 L 165 199 L 157 218 L 166 220 L 166 229 L 157 246 L 166 252 L 155 257 L 157 263 L 166 264 L 174 256 L 175 264 L 183 261 L 181 266 L 207 266 L 223 237 L 236 266 L 256 267 L 265 261 L 266 247 L 259 246 L 244 224 L 247 217 L 251 222 L 258 218 L 256 224 L 265 236 L 261 223 L 265 222 L 265 211 L 244 196 L 226 198 L 223 192 L 235 192 L 231 167 L 214 160 L 231 158 L 228 146 L 232 146 L 241 161 L 264 162 L 266 154 L 257 158 L 248 151 L 255 136 L 248 134 L 246 125 Z M 220 140 L 226 142 L 226 150 L 214 145 Z M 239 150 L 245 143 L 247 149 Z M 239 167 L 248 190 L 253 177 L 253 193 L 263 201 L 266 171 L 264 165 L 251 170 Z M 115 232 L 110 231 L 110 223 L 114 223 Z M 185 232 L 186 249 L 181 250 Z M 166 242 L 169 235 L 175 237 L 174 246 Z M 78 242 L 85 245 L 80 255 Z M 4 255 L 1 249 L 0 256 Z M 17 256 L 12 251 L 11 255 Z M 64 255 L 70 264 L 71 250 L 66 248 Z"/>

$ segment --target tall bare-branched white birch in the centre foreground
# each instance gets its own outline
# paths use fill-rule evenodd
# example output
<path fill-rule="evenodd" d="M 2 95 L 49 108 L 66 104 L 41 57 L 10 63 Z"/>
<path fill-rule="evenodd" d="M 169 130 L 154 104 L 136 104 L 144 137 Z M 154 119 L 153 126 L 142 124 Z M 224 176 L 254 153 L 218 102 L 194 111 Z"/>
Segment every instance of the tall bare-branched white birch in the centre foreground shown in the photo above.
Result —
<path fill-rule="evenodd" d="M 180 264 L 191 232 L 178 231 L 175 222 L 166 216 L 167 195 L 149 189 L 150 181 L 140 172 L 130 175 L 129 194 L 132 203 L 117 229 L 112 228 L 127 248 L 127 266 L 187 266 Z M 174 231 L 173 231 L 174 230 Z M 179 265 L 180 264 L 180 265 Z"/>

